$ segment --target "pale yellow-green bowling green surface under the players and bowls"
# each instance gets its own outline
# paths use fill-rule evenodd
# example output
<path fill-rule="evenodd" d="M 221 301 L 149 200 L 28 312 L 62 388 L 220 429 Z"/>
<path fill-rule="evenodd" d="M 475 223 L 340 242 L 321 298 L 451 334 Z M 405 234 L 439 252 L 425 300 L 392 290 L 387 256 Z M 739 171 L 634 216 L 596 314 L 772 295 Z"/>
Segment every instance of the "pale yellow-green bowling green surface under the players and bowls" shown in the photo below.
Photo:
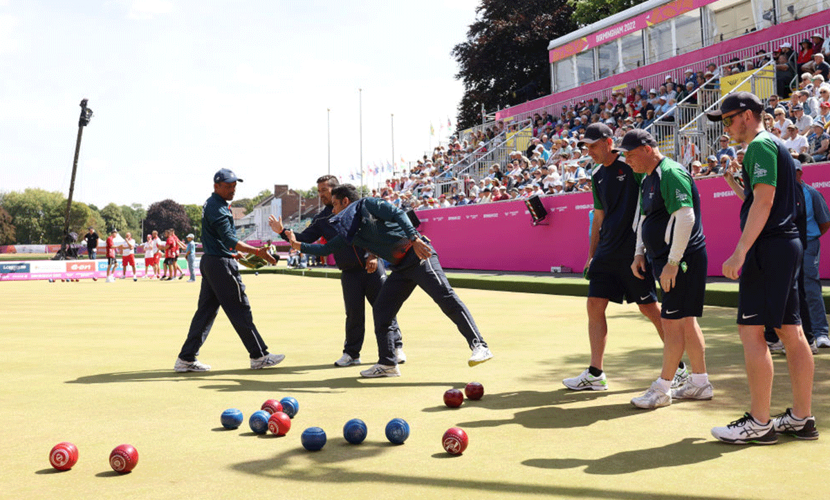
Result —
<path fill-rule="evenodd" d="M 455 326 L 417 290 L 398 320 L 409 360 L 403 376 L 362 380 L 334 368 L 343 342 L 339 283 L 247 275 L 254 319 L 286 360 L 248 370 L 247 352 L 220 311 L 200 360 L 203 374 L 176 374 L 198 296 L 186 282 L 4 282 L 0 313 L 0 498 L 814 498 L 830 445 L 782 438 L 767 447 L 715 442 L 709 429 L 749 406 L 735 310 L 706 307 L 715 399 L 656 411 L 629 400 L 657 377 L 662 346 L 636 307 L 608 309 L 607 392 L 571 392 L 560 380 L 588 363 L 584 299 L 460 289 L 496 357 L 469 368 Z M 376 360 L 371 318 L 363 359 Z M 830 355 L 816 357 L 813 413 L 830 421 Z M 789 405 L 784 358 L 775 358 L 774 411 Z M 477 380 L 481 401 L 458 409 L 443 392 Z M 248 416 L 293 395 L 300 412 L 285 437 L 256 436 Z M 219 424 L 238 408 L 237 430 Z M 389 419 L 412 434 L 393 446 Z M 364 419 L 369 437 L 346 444 L 343 424 Z M 320 426 L 318 453 L 300 434 Z M 466 452 L 443 452 L 460 426 Z M 75 468 L 54 472 L 48 453 L 71 441 Z M 139 464 L 116 475 L 107 463 L 133 444 Z M 819 495 L 820 496 L 820 495 Z"/>

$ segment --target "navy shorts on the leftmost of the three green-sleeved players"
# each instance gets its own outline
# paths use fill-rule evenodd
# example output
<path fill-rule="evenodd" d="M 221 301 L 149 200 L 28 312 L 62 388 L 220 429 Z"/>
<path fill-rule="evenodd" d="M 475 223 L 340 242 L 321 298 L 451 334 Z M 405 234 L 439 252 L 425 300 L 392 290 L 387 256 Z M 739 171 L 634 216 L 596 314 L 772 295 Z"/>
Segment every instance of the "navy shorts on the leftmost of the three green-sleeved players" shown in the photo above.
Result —
<path fill-rule="evenodd" d="M 651 266 L 646 263 L 646 279 L 640 279 L 631 272 L 633 257 L 628 259 L 600 260 L 594 259 L 588 268 L 588 297 L 599 297 L 609 301 L 629 304 L 651 304 L 657 301 L 657 289 Z"/>

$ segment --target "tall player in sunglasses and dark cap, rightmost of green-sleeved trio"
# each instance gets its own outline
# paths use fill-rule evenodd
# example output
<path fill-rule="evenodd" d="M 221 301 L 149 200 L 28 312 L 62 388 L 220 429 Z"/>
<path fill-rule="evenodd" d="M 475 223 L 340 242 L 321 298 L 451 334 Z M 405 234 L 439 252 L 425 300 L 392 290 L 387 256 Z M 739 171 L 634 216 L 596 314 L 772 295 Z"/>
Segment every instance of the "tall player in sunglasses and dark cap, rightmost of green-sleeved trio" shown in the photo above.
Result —
<path fill-rule="evenodd" d="M 764 106 L 749 92 L 735 92 L 708 114 L 723 121 L 738 142 L 749 143 L 744 156 L 744 203 L 740 208 L 740 240 L 723 263 L 725 277 L 739 279 L 738 331 L 744 344 L 751 408 L 715 438 L 733 444 L 774 444 L 778 433 L 818 439 L 812 416 L 813 355 L 798 314 L 798 271 L 803 248 L 796 228 L 793 157 L 764 130 Z M 743 267 L 743 272 L 741 268 Z M 774 328 L 787 350 L 793 407 L 770 418 L 773 361 L 764 341 L 764 327 Z"/>

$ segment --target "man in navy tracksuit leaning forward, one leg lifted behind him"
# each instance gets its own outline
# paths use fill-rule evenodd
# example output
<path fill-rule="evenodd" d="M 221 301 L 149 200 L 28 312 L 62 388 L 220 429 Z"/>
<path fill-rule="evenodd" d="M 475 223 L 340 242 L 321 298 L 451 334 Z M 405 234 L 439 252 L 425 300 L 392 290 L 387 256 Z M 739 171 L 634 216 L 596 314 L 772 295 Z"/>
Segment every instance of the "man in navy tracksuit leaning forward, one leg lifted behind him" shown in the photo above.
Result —
<path fill-rule="evenodd" d="M 286 233 L 291 247 L 300 252 L 328 255 L 337 248 L 353 244 L 390 263 L 392 274 L 383 283 L 373 307 L 378 363 L 369 370 L 361 371 L 360 375 L 400 375 L 389 324 L 415 287 L 427 292 L 466 338 L 472 350 L 467 361 L 469 365 L 478 365 L 493 357 L 470 311 L 447 281 L 437 254 L 413 228 L 406 213 L 382 199 L 359 199 L 357 189 L 351 184 L 332 189 L 331 202 L 335 215 L 330 222 L 337 229 L 337 237 L 325 245 L 315 245 L 297 242 L 293 233 Z"/>

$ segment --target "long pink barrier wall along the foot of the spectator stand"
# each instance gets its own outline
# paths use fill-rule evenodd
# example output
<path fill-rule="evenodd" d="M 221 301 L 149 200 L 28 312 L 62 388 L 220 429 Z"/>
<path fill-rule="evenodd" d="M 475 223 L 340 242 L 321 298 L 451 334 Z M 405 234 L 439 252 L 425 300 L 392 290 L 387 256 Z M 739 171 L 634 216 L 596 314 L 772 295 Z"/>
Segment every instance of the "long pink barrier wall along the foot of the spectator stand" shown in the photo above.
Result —
<path fill-rule="evenodd" d="M 803 180 L 825 199 L 830 198 L 830 164 L 805 166 Z M 696 184 L 701 194 L 709 275 L 722 276 L 720 266 L 740 238 L 740 199 L 721 177 L 699 179 Z M 540 225 L 533 225 L 523 201 L 433 208 L 419 211 L 417 216 L 443 267 L 530 272 L 570 267 L 581 272 L 588 255 L 592 194 L 561 194 L 541 200 L 548 217 Z M 828 243 L 823 245 L 821 261 L 821 277 L 828 279 Z"/>

